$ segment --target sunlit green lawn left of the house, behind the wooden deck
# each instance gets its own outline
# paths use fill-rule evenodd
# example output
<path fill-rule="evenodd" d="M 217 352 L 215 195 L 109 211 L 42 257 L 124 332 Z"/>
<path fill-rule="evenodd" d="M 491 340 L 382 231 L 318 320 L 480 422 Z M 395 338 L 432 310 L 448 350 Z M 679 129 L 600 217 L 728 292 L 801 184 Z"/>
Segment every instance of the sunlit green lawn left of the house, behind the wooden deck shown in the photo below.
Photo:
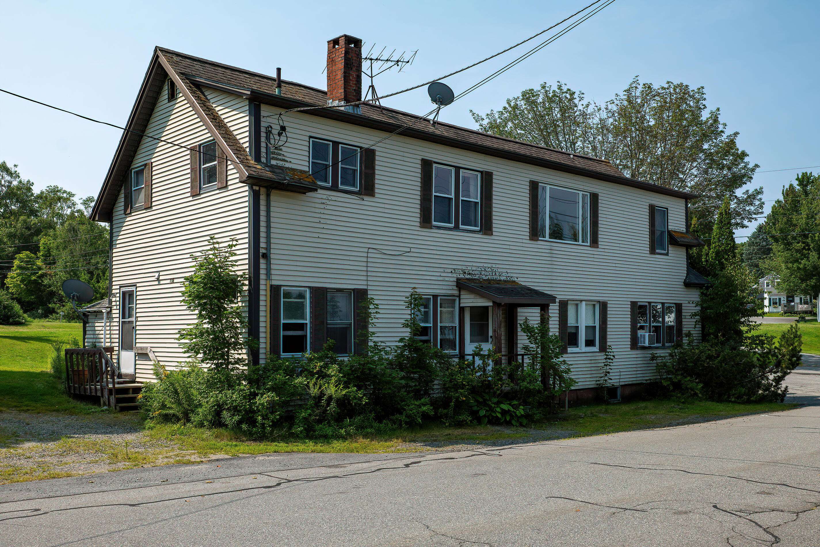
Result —
<path fill-rule="evenodd" d="M 52 342 L 82 337 L 80 323 L 34 321 L 0 326 L 0 410 L 21 412 L 89 413 L 95 407 L 62 393 L 52 377 L 48 359 Z"/>

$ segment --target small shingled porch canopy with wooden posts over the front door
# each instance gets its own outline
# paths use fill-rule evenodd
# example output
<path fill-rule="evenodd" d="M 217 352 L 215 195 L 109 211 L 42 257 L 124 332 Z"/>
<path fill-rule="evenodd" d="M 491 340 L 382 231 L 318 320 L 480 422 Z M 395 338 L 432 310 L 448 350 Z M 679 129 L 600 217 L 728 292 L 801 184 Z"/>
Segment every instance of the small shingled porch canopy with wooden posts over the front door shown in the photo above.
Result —
<path fill-rule="evenodd" d="M 456 286 L 493 303 L 492 332 L 495 351 L 505 353 L 509 362 L 517 359 L 518 308 L 540 308 L 542 317 L 546 317 L 549 314 L 549 304 L 556 302 L 552 294 L 512 280 L 457 279 Z M 507 340 L 504 352 L 502 352 L 500 343 L 502 340 L 502 308 L 506 310 L 507 316 Z M 459 353 L 464 354 L 465 349 L 462 336 L 462 340 L 459 341 Z"/>

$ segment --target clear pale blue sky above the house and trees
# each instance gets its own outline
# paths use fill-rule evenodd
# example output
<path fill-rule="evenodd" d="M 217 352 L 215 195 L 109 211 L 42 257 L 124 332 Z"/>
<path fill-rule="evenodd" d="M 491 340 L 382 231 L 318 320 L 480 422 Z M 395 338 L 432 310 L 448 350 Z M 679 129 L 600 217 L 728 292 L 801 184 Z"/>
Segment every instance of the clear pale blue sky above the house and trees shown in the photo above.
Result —
<path fill-rule="evenodd" d="M 326 41 L 346 33 L 367 48 L 419 50 L 407 71 L 380 76 L 384 94 L 486 57 L 586 3 L 2 0 L 0 87 L 124 125 L 155 45 L 266 74 L 281 66 L 286 80 L 324 89 Z M 720 107 L 761 170 L 820 165 L 818 21 L 820 2 L 617 0 L 441 117 L 474 127 L 470 109 L 486 112 L 544 81 L 603 102 L 640 75 L 704 86 L 709 107 Z M 447 83 L 458 93 L 514 57 Z M 430 109 L 424 89 L 385 104 Z M 119 138 L 119 130 L 0 93 L 0 159 L 38 187 L 96 195 Z M 794 176 L 759 173 L 754 185 L 773 200 Z"/>

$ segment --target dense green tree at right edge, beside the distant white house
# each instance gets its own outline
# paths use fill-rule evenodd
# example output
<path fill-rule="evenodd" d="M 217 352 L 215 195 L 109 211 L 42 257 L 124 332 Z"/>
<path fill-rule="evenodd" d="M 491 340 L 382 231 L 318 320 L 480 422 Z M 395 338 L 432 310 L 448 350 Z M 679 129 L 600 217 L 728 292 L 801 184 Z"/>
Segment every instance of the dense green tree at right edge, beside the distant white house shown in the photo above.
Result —
<path fill-rule="evenodd" d="M 820 175 L 803 172 L 786 186 L 765 222 L 772 239 L 778 287 L 788 293 L 820 293 Z M 778 234 L 778 235 L 774 235 Z"/>

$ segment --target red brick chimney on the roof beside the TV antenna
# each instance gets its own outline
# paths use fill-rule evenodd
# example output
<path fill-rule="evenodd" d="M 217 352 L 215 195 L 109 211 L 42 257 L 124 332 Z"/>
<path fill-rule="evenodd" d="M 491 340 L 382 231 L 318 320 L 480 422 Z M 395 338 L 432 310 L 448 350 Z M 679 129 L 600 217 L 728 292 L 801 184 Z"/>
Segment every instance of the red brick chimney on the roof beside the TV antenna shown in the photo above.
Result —
<path fill-rule="evenodd" d="M 348 34 L 327 41 L 327 103 L 362 100 L 362 40 Z"/>

